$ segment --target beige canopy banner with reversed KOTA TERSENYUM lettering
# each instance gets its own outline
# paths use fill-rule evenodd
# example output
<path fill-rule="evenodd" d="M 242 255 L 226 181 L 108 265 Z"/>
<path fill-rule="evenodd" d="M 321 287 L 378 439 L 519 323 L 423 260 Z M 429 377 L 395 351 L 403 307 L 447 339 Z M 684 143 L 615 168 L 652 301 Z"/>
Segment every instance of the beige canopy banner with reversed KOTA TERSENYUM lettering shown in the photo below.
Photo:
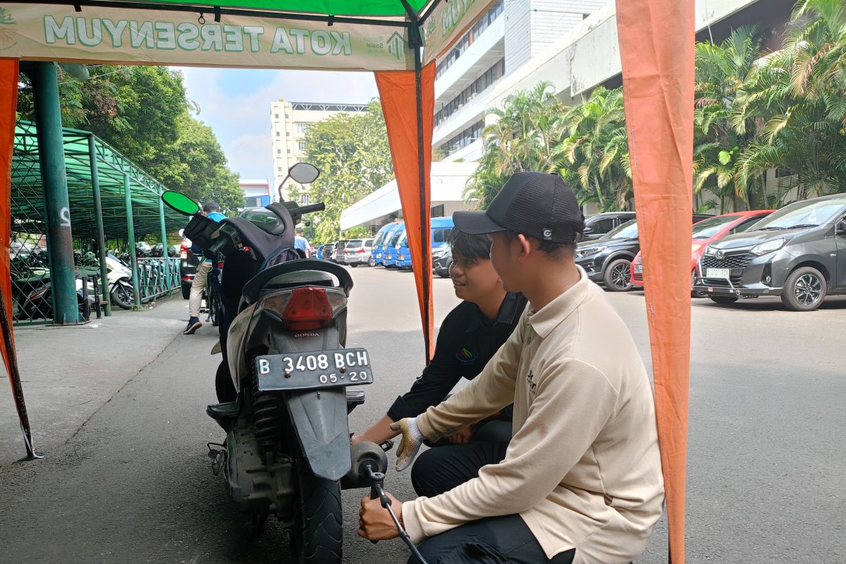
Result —
<path fill-rule="evenodd" d="M 396 26 L 327 25 L 258 14 L 227 14 L 216 22 L 212 8 L 202 17 L 102 6 L 75 12 L 73 6 L 8 3 L 0 9 L 0 57 L 234 68 L 414 68 L 402 19 Z"/>

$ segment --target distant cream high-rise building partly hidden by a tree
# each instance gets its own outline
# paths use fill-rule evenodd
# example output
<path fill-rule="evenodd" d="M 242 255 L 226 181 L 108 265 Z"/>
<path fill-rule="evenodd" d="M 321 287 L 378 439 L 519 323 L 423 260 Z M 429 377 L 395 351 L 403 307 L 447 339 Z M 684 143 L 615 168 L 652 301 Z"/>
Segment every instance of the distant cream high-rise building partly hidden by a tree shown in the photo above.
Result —
<path fill-rule="evenodd" d="M 271 135 L 273 141 L 272 199 L 277 200 L 277 188 L 288 174 L 288 168 L 305 158 L 305 132 L 312 123 L 331 118 L 340 112 L 365 112 L 367 104 L 316 104 L 303 101 L 273 101 L 270 105 Z M 308 204 L 309 188 L 290 180 L 283 194 L 288 200 Z"/>

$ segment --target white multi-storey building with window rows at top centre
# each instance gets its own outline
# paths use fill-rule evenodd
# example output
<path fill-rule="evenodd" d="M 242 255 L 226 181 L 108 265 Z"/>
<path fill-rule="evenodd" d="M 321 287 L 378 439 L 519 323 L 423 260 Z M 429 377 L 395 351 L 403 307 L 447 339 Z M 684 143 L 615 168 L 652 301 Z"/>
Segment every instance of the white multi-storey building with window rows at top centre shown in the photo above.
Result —
<path fill-rule="evenodd" d="M 580 25 L 606 0 L 508 0 L 488 8 L 437 63 L 433 144 L 446 161 L 475 161 L 492 86 Z"/>

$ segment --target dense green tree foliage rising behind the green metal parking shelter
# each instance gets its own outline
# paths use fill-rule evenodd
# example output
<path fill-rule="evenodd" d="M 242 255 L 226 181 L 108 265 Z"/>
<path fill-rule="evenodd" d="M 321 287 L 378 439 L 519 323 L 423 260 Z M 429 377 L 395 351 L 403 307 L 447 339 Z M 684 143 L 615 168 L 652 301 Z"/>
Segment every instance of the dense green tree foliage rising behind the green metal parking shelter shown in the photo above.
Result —
<path fill-rule="evenodd" d="M 112 65 L 91 66 L 89 72 L 91 79 L 80 82 L 60 69 L 65 127 L 96 134 L 168 189 L 218 200 L 228 212 L 244 205 L 217 138 L 191 115 L 181 73 Z M 35 119 L 31 85 L 21 76 L 18 116 Z"/>

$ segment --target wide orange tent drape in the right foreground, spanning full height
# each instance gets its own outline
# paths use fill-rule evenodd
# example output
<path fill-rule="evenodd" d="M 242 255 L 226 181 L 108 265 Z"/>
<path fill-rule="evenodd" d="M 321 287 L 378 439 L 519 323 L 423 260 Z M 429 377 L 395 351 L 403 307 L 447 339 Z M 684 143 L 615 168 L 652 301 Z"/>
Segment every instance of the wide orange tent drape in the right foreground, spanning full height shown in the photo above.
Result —
<path fill-rule="evenodd" d="M 643 251 L 669 558 L 684 564 L 694 0 L 617 0 L 617 28 Z"/>

